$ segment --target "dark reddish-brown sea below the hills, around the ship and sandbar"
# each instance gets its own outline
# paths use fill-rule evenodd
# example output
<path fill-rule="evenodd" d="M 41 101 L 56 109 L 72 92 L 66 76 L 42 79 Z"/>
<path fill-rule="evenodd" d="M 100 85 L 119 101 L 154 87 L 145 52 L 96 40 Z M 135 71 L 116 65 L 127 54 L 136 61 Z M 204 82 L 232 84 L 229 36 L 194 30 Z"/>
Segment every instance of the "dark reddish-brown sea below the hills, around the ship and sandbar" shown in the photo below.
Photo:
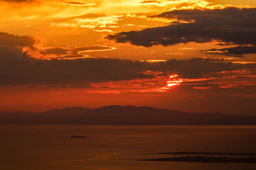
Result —
<path fill-rule="evenodd" d="M 141 153 L 256 153 L 256 126 L 0 125 L 0 139 L 3 170 L 256 169 L 256 164 L 136 161 L 173 156 Z"/>

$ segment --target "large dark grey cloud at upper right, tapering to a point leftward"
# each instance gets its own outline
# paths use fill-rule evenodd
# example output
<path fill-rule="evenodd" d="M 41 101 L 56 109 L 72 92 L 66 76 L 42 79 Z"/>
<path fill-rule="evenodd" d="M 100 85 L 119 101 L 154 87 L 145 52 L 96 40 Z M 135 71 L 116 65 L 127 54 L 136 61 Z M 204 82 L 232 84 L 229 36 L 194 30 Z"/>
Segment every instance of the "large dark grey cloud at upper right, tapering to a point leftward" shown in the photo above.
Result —
<path fill-rule="evenodd" d="M 177 18 L 179 22 L 142 31 L 118 32 L 107 39 L 138 46 L 207 43 L 213 39 L 237 45 L 256 45 L 256 8 L 173 10 L 153 17 Z"/>

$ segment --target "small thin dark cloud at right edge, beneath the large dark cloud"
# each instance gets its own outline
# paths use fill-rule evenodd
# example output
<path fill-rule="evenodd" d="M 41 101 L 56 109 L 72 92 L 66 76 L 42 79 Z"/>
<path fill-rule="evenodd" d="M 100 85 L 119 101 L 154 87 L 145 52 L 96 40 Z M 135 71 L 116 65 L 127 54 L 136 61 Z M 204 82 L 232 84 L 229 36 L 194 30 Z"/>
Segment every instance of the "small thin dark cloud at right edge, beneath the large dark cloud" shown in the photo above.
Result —
<path fill-rule="evenodd" d="M 220 55 L 230 55 L 234 57 L 243 57 L 244 54 L 256 53 L 256 46 L 235 46 L 230 48 L 216 49 L 212 48 L 210 50 L 201 50 L 205 53 L 214 53 Z"/>

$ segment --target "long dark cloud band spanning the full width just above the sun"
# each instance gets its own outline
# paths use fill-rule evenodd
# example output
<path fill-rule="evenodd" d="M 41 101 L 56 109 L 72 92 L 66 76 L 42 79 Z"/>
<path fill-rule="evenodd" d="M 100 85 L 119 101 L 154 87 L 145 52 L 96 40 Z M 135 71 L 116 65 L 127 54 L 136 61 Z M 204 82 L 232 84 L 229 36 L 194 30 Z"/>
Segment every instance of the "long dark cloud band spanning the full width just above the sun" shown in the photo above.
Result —
<path fill-rule="evenodd" d="M 166 62 L 141 62 L 122 59 L 52 59 L 29 57 L 22 47 L 33 50 L 35 41 L 30 36 L 0 36 L 0 85 L 49 85 L 49 87 L 77 87 L 99 81 L 153 78 L 145 71 L 161 71 L 168 76 L 177 73 L 184 78 L 202 78 L 221 71 L 246 69 L 255 71 L 256 64 L 234 64 L 225 60 L 190 59 Z M 89 85 L 90 87 L 90 85 Z"/>

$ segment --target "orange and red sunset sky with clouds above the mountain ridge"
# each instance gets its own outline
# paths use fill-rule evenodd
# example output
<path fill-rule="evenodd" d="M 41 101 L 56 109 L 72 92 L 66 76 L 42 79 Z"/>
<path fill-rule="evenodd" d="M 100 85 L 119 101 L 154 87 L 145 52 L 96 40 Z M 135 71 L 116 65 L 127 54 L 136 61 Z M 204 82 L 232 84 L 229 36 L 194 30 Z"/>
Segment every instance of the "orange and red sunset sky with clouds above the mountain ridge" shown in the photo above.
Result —
<path fill-rule="evenodd" d="M 0 0 L 0 110 L 256 115 L 256 1 Z"/>

